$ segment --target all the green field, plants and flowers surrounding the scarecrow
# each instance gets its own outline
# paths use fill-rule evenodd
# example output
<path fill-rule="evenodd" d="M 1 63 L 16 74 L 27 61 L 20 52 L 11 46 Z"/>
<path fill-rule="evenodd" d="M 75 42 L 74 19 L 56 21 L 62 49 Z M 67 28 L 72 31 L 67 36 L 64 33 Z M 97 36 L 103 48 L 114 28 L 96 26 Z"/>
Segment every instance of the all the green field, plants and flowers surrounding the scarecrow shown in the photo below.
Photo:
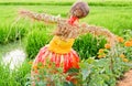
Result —
<path fill-rule="evenodd" d="M 61 14 L 63 18 L 67 18 L 70 4 L 74 1 L 11 0 L 9 2 L 8 0 L 0 0 L 0 58 L 2 58 L 3 53 L 18 45 L 22 46 L 28 54 L 23 65 L 13 71 L 9 68 L 10 64 L 6 66 L 0 60 L 0 86 L 29 86 L 31 84 L 31 58 L 34 58 L 38 50 L 50 42 L 53 36 L 51 34 L 56 28 L 55 24 L 33 22 L 28 18 L 19 19 L 18 10 L 24 8 L 38 13 Z M 74 49 L 81 57 L 78 82 L 84 86 L 116 86 L 117 79 L 132 68 L 131 0 L 87 1 L 90 6 L 90 13 L 80 22 L 109 29 L 118 35 L 118 44 L 112 52 L 113 49 L 106 44 L 102 36 L 94 37 L 91 34 L 79 36 L 74 44 Z M 53 65 L 54 68 L 56 67 Z M 46 72 L 43 76 L 52 77 L 53 83 L 55 82 L 57 86 L 64 86 L 64 84 L 72 86 L 72 83 L 66 79 L 69 73 L 62 75 L 62 68 L 57 69 L 58 74 L 51 74 L 46 68 L 41 72 L 42 74 Z M 38 86 L 43 86 L 47 84 L 45 80 L 36 80 L 36 83 Z M 63 83 L 61 83 L 62 80 Z"/>

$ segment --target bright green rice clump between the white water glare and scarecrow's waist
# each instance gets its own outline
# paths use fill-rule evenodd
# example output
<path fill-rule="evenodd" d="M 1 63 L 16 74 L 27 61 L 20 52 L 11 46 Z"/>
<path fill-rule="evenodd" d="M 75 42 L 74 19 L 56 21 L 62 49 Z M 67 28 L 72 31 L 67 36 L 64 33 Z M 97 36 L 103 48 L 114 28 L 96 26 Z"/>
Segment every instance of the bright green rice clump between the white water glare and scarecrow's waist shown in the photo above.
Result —
<path fill-rule="evenodd" d="M 47 44 L 50 40 L 51 35 L 48 35 L 48 33 L 46 33 L 44 30 L 36 29 L 30 32 L 25 43 L 25 51 L 28 53 L 28 57 L 34 58 L 38 53 L 40 49 Z"/>

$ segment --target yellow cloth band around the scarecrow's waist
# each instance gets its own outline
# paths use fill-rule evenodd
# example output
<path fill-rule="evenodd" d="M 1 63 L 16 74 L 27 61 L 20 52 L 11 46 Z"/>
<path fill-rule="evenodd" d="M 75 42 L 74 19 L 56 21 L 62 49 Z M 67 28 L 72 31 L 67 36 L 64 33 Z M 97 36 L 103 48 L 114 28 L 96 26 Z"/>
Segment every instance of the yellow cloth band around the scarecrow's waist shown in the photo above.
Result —
<path fill-rule="evenodd" d="M 63 41 L 59 36 L 54 36 L 53 40 L 50 42 L 48 50 L 59 54 L 69 53 L 74 41 L 75 39 L 68 39 L 67 41 Z"/>

